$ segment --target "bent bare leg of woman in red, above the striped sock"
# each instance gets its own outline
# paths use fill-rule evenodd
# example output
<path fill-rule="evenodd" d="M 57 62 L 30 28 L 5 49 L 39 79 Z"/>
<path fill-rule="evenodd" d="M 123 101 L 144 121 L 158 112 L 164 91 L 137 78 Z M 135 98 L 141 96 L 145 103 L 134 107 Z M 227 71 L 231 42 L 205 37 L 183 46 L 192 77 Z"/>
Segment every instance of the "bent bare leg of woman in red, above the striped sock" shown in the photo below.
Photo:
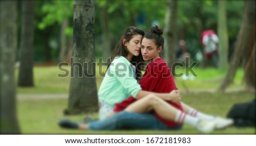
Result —
<path fill-rule="evenodd" d="M 148 95 L 133 104 L 129 105 L 125 111 L 133 113 L 147 113 L 150 109 L 154 109 L 160 117 L 174 121 L 178 110 L 173 106 L 167 104 L 167 102 L 154 96 Z"/>

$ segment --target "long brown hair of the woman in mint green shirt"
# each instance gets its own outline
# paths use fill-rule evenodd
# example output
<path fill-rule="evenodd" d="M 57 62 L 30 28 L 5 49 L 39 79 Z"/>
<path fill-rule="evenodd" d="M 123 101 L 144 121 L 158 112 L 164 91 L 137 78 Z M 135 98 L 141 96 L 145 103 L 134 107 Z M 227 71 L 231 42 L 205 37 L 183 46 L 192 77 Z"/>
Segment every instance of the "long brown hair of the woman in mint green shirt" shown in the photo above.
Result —
<path fill-rule="evenodd" d="M 144 31 L 137 27 L 133 27 L 133 26 L 128 27 L 126 29 L 125 33 L 123 33 L 122 37 L 120 38 L 117 46 L 113 50 L 110 63 L 114 60 L 115 57 L 119 57 L 119 56 L 127 57 L 128 50 L 127 50 L 126 46 L 123 44 L 125 42 L 129 42 L 134 37 L 134 35 L 144 36 Z M 125 40 L 125 41 L 123 41 L 123 40 Z M 139 53 L 138 57 L 133 56 L 133 58 L 131 58 L 131 64 L 136 66 L 136 72 L 135 72 L 136 79 L 139 79 L 142 75 L 141 74 L 142 67 L 144 66 L 144 60 L 143 60 L 142 54 Z M 110 66 L 110 64 L 108 65 L 108 68 L 109 68 L 109 66 Z M 107 70 L 108 70 L 108 68 L 107 68 Z"/>

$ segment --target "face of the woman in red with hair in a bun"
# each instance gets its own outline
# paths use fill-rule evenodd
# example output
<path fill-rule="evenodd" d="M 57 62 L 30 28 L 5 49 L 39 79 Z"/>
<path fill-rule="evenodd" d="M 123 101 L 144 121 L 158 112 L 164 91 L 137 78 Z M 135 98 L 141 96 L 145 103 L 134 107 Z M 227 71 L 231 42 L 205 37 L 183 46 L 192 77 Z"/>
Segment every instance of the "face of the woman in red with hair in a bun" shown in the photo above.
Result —
<path fill-rule="evenodd" d="M 152 62 L 159 58 L 159 53 L 162 50 L 162 46 L 157 48 L 155 41 L 152 39 L 143 38 L 141 42 L 141 54 L 144 61 Z"/>

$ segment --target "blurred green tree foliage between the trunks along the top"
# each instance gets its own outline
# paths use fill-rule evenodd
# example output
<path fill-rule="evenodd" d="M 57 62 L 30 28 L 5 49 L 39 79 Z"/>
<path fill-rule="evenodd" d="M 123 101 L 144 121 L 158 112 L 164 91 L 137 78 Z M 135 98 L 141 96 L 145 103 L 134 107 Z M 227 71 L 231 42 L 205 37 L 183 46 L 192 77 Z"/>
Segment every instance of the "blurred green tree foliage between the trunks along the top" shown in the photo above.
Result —
<path fill-rule="evenodd" d="M 158 24 L 164 28 L 164 16 L 166 13 L 166 0 L 96 0 L 95 11 L 95 37 L 96 37 L 96 56 L 102 57 L 104 49 L 104 33 L 101 27 L 101 9 L 108 7 L 108 25 L 109 39 L 111 40 L 110 48 L 113 49 L 119 41 L 123 30 L 129 25 L 135 25 L 144 30 L 148 30 L 152 24 Z M 187 42 L 188 50 L 191 51 L 192 57 L 201 49 L 199 38 L 204 29 L 214 29 L 217 32 L 217 2 L 212 0 L 205 1 L 179 1 L 177 3 L 177 36 Z M 233 52 L 233 44 L 238 34 L 241 23 L 243 1 L 227 1 L 226 15 L 228 22 L 229 36 L 229 56 Z M 48 44 L 51 49 L 52 59 L 57 58 L 60 50 L 60 27 L 64 19 L 72 22 L 73 2 L 72 1 L 36 1 L 36 32 L 35 41 L 38 47 L 35 50 L 35 59 L 42 60 L 44 46 L 40 42 L 41 38 L 48 31 Z M 72 36 L 73 24 L 65 30 L 67 36 Z M 38 35 L 37 35 L 38 34 Z M 51 43 L 50 43 L 51 42 Z M 56 45 L 51 45 L 55 42 Z"/>

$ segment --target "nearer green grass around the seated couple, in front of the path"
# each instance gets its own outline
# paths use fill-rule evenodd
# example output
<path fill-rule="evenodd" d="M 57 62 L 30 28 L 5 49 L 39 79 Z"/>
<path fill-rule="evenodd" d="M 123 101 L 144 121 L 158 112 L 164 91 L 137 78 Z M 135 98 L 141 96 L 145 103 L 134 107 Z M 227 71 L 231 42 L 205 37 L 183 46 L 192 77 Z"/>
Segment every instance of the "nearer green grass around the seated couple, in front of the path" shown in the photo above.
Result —
<path fill-rule="evenodd" d="M 183 101 L 204 113 L 226 117 L 229 109 L 235 103 L 250 101 L 253 93 L 200 93 L 182 95 Z M 67 99 L 19 99 L 18 119 L 22 134 L 198 134 L 198 132 L 184 125 L 179 131 L 77 131 L 65 130 L 57 126 L 57 121 L 69 118 L 73 121 L 82 121 L 89 115 L 97 118 L 97 113 L 64 116 L 63 110 L 67 108 Z M 254 128 L 230 127 L 226 130 L 216 130 L 213 134 L 255 134 Z"/>

